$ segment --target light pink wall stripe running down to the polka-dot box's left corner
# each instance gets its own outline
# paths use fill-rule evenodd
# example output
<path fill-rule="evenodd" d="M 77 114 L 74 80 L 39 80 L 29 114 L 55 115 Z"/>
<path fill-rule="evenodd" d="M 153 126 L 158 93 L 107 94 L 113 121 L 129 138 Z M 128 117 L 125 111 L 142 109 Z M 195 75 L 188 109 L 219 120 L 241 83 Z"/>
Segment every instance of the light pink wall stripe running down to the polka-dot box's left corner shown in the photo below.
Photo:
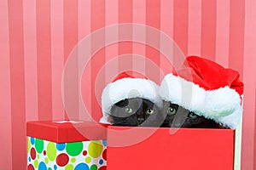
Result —
<path fill-rule="evenodd" d="M 26 121 L 38 120 L 36 1 L 23 1 Z"/>

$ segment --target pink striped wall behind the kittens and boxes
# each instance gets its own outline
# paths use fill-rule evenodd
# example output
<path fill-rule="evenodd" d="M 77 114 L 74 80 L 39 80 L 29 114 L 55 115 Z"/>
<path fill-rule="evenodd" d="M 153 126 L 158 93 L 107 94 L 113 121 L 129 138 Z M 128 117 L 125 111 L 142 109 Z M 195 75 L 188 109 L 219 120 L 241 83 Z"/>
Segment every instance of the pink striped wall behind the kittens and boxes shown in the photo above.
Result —
<path fill-rule="evenodd" d="M 201 55 L 240 71 L 245 83 L 241 169 L 255 169 L 255 18 L 254 0 L 0 1 L 0 169 L 26 169 L 27 121 L 68 118 L 61 99 L 61 75 L 68 55 L 90 32 L 119 23 L 153 26 L 172 37 L 185 55 Z M 115 36 L 121 33 L 117 30 Z M 132 31 L 127 34 L 134 36 Z M 144 37 L 147 42 L 150 33 Z M 102 41 L 108 38 L 106 34 Z M 91 46 L 96 41 L 91 40 Z M 119 42 L 91 59 L 85 69 L 90 77 L 83 80 L 91 84 L 86 83 L 85 91 L 95 87 L 105 62 L 131 53 L 165 65 L 154 48 Z M 124 60 L 115 65 L 119 62 Z M 119 67 L 138 66 L 130 59 L 125 63 Z M 79 86 L 78 77 L 73 81 Z M 101 109 L 95 101 L 94 91 L 84 97 L 89 111 L 99 119 Z M 79 99 L 74 98 L 73 105 L 79 106 Z"/>

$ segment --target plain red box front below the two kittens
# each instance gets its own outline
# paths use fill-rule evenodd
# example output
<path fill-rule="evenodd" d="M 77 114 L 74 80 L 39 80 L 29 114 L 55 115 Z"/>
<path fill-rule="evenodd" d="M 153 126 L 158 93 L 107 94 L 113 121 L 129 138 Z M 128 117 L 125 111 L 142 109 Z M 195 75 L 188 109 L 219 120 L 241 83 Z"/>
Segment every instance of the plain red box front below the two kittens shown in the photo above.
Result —
<path fill-rule="evenodd" d="M 127 129 L 108 127 L 108 169 L 233 170 L 231 129 L 180 128 L 174 134 L 166 127 Z M 134 144 L 125 146 L 129 143 Z"/>

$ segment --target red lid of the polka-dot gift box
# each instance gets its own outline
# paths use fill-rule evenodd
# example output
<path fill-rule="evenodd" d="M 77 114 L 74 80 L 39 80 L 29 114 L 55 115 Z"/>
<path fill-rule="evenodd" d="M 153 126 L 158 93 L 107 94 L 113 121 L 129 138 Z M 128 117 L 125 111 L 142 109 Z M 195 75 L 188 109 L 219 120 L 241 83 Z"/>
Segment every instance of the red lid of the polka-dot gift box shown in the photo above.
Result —
<path fill-rule="evenodd" d="M 26 135 L 55 143 L 107 138 L 107 128 L 96 122 L 37 121 L 26 122 Z"/>

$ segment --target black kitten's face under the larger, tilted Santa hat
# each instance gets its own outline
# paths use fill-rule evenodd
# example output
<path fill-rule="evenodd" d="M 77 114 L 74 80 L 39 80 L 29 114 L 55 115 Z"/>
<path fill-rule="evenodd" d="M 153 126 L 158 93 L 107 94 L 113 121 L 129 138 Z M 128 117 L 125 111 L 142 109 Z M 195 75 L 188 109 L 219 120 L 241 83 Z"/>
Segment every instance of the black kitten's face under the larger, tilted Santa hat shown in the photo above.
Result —
<path fill-rule="evenodd" d="M 164 102 L 164 112 L 166 120 L 161 127 L 197 127 L 197 128 L 218 128 L 217 122 L 209 120 L 203 116 L 195 115 L 192 111 L 184 109 L 182 106 Z"/>

